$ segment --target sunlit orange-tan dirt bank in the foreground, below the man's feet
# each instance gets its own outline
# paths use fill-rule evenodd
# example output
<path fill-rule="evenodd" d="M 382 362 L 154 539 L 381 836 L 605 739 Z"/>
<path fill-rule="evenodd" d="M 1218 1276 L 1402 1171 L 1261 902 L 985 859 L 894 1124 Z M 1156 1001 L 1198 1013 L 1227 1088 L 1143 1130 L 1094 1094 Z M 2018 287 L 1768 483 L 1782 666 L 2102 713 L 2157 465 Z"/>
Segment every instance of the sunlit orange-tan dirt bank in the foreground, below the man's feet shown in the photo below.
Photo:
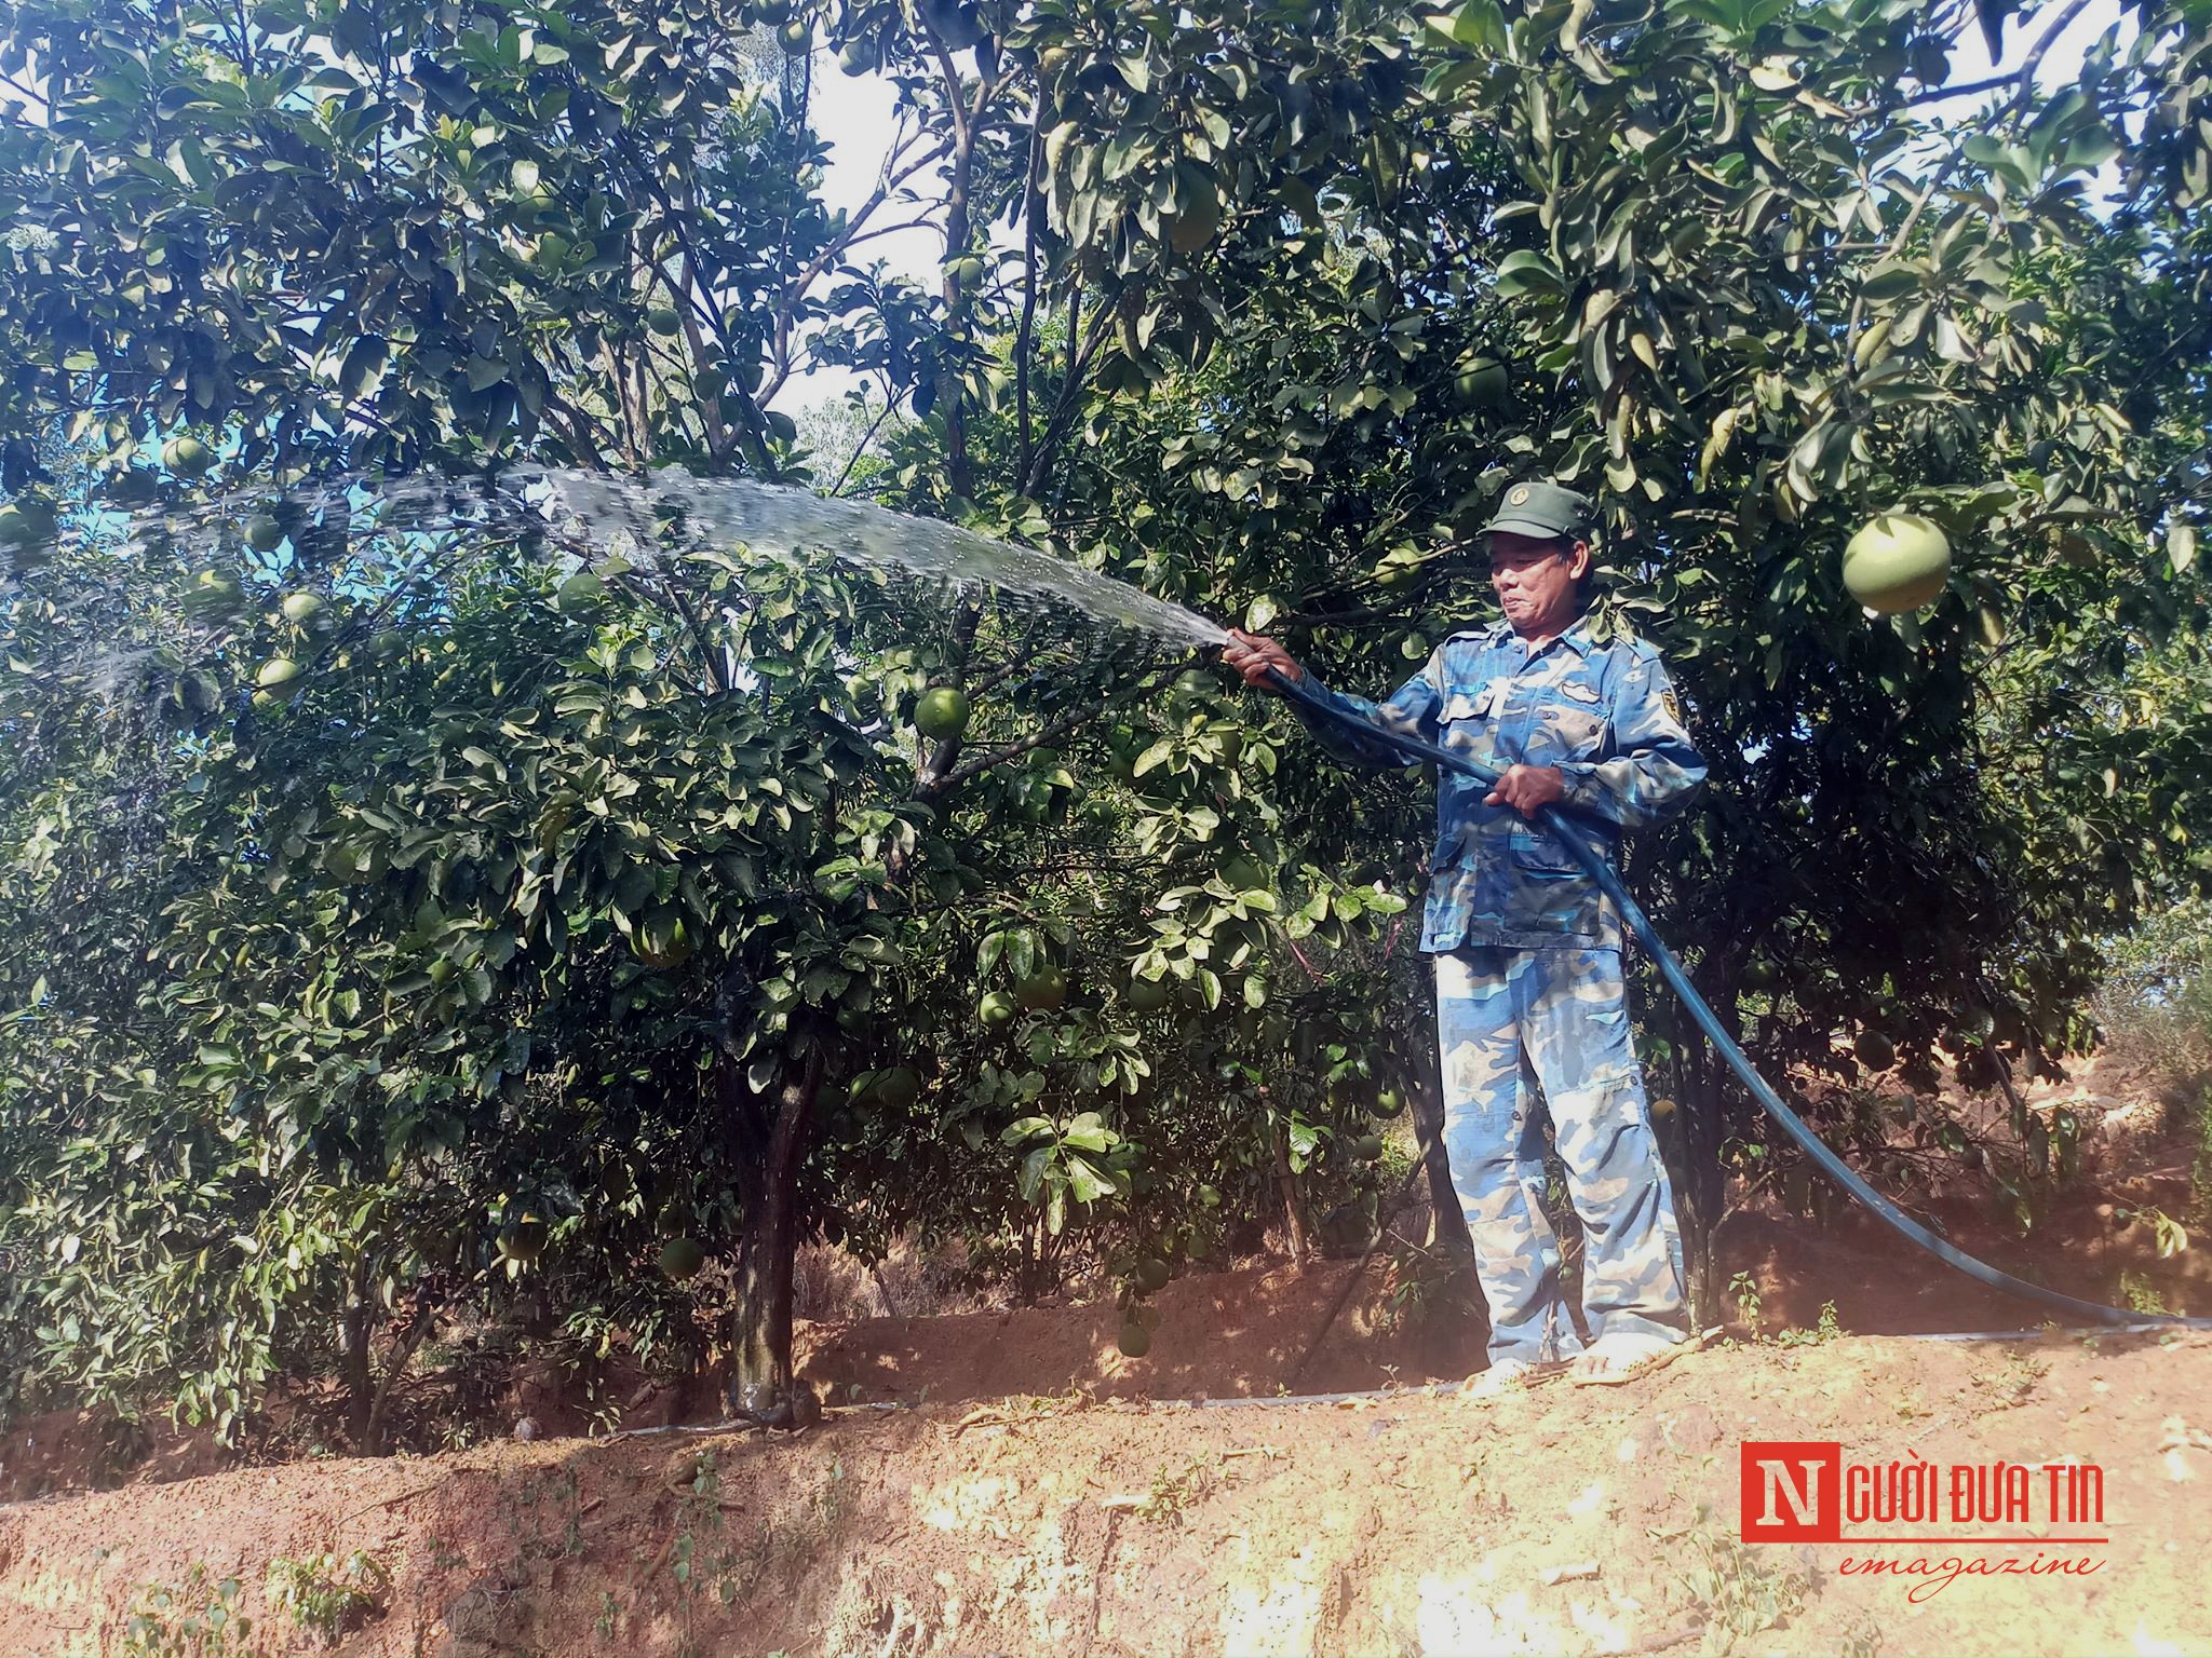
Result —
<path fill-rule="evenodd" d="M 1113 1315 L 1093 1311 L 1104 1355 Z M 305 1651 L 265 1603 L 270 1565 L 358 1550 L 332 1578 L 374 1583 L 374 1609 L 330 1620 L 341 1651 L 392 1658 L 1626 1654 L 1719 1649 L 1730 1627 L 1787 1654 L 2194 1654 L 2212 1651 L 2208 1430 L 2212 1337 L 2192 1333 L 1708 1346 L 1619 1388 L 1491 1402 L 1031 1395 L 832 1410 L 772 1439 L 509 1441 L 0 1510 L 0 1651 L 126 1651 L 146 1585 L 195 1570 L 192 1605 L 237 1578 L 257 1620 L 221 1651 Z M 1991 1547 L 1743 1545 L 1747 1437 L 1838 1441 L 1845 1461 L 2079 1459 L 2104 1517 L 1966 1528 L 2024 1539 Z M 2106 1541 L 2059 1541 L 2088 1534 Z M 1913 1601 L 1929 1578 L 1847 1574 L 1858 1554 L 2095 1567 Z"/>

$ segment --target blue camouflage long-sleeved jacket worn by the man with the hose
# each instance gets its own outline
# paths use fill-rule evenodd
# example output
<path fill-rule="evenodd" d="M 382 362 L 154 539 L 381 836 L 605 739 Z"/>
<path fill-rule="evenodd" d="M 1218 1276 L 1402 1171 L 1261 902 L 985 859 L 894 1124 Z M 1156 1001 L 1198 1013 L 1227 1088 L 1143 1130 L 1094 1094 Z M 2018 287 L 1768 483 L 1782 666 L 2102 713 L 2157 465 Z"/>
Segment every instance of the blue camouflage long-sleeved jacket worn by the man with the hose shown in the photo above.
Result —
<path fill-rule="evenodd" d="M 1599 641 L 1588 619 L 1531 654 L 1504 621 L 1451 634 L 1387 703 L 1307 681 L 1323 701 L 1504 772 L 1555 765 L 1568 816 L 1610 858 L 1624 829 L 1663 822 L 1705 780 L 1659 652 L 1639 639 Z M 1365 767 L 1418 760 L 1294 703 L 1338 758 Z M 1420 948 L 1619 948 L 1619 906 L 1575 853 L 1458 772 L 1436 785 L 1436 851 Z"/>

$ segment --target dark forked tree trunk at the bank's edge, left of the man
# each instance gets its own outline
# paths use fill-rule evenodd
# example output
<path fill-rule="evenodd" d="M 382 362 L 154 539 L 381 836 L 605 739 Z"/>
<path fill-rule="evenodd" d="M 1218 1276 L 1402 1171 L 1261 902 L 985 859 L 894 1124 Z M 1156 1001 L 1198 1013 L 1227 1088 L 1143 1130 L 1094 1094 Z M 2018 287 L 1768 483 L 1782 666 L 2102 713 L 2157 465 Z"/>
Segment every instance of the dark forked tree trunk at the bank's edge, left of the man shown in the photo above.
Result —
<path fill-rule="evenodd" d="M 765 1096 L 745 1088 L 741 1061 L 721 1061 L 721 1103 L 737 1152 L 743 1229 L 737 1304 L 730 1311 L 728 1395 L 734 1413 L 770 1419 L 787 1413 L 796 1399 L 792 1269 L 799 1256 L 799 1163 L 823 1074 L 821 1035 L 796 1026 L 794 1032 L 801 1052 Z"/>

